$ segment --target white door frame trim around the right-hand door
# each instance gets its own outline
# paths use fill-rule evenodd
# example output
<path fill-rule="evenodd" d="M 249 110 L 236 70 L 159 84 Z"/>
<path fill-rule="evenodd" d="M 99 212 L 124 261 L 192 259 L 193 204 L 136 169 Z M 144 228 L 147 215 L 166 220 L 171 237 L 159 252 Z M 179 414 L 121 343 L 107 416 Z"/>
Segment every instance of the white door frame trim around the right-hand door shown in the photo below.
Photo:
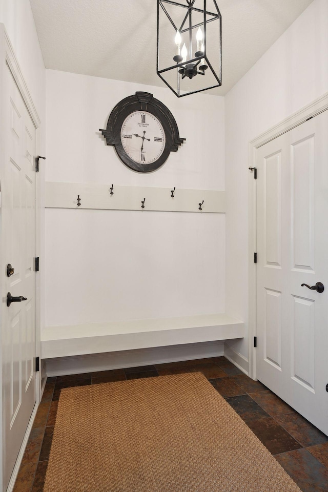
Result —
<path fill-rule="evenodd" d="M 328 92 L 256 137 L 250 142 L 249 167 L 256 167 L 256 151 L 259 147 L 327 109 Z M 254 171 L 250 172 L 249 179 L 249 375 L 256 379 L 256 348 L 254 348 L 254 337 L 256 336 L 256 263 L 254 263 L 253 256 L 256 252 L 256 179 L 254 179 L 253 173 Z"/>

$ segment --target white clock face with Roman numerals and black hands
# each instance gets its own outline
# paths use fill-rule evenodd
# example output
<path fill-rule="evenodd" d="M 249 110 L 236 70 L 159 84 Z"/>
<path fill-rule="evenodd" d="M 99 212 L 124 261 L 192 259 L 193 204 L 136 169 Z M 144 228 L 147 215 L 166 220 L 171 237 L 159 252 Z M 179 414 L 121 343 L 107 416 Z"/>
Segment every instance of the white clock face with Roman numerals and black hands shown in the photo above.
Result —
<path fill-rule="evenodd" d="M 134 111 L 124 120 L 121 142 L 128 156 L 139 164 L 155 162 L 165 149 L 165 132 L 147 111 Z"/>

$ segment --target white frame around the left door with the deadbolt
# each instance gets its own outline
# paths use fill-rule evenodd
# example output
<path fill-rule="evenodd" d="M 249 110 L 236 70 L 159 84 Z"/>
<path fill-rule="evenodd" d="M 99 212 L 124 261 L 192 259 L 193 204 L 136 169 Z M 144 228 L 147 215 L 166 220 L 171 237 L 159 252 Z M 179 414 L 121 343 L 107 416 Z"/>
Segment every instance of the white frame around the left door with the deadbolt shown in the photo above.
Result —
<path fill-rule="evenodd" d="M 4 78 L 5 78 L 5 70 L 8 70 L 6 65 L 9 67 L 12 76 L 17 84 L 17 87 L 20 91 L 20 94 L 23 97 L 24 103 L 30 113 L 30 116 L 32 118 L 33 124 L 36 129 L 36 152 L 37 154 L 39 153 L 40 149 L 40 118 L 37 114 L 36 108 L 34 106 L 31 94 L 28 90 L 28 87 L 26 85 L 22 70 L 19 67 L 18 60 L 16 58 L 16 55 L 14 53 L 12 44 L 10 42 L 10 39 L 8 37 L 8 34 L 6 32 L 4 24 L 0 23 L 0 114 L 4 114 Z M 3 118 L 0 121 L 0 149 L 4 148 L 4 120 Z M 0 179 L 3 176 L 3 170 L 4 170 L 4 152 L 0 153 Z M 1 183 L 2 186 L 2 183 Z M 40 196 L 41 196 L 41 190 L 40 190 L 40 182 L 38 180 L 38 175 L 36 175 L 36 256 L 40 256 L 40 244 L 41 244 L 41 238 L 40 238 Z M 0 227 L 2 226 L 0 222 Z M 0 255 L 3 253 L 3 241 L 0 239 Z M 4 275 L 4 272 L 1 272 L 2 275 Z M 35 287 L 35 343 L 36 343 L 36 357 L 40 357 L 40 278 L 38 275 L 36 275 L 36 287 Z M 3 282 L 0 281 L 0 298 L 3 299 L 6 297 L 6 292 L 3 292 Z M 0 310 L 0 327 L 2 326 L 2 313 Z M 0 347 L 2 347 L 2 330 L 0 330 Z M 28 428 L 26 429 L 26 434 L 22 443 L 22 446 L 20 448 L 18 458 L 12 473 L 12 477 L 10 479 L 7 492 L 11 492 L 14 486 L 14 482 L 18 473 L 18 469 L 20 466 L 20 462 L 22 461 L 24 450 L 27 444 L 27 440 L 30 434 L 30 430 L 33 424 L 33 420 L 36 414 L 37 406 L 40 401 L 40 395 L 41 395 L 41 379 L 40 379 L 40 372 L 37 373 L 36 375 L 36 405 L 33 409 L 33 413 L 31 415 L 31 419 L 28 425 Z M 0 350 L 0 385 L 2 386 L 2 350 Z M 0 442 L 3 441 L 2 439 L 2 391 L 0 391 Z M 2 488 L 2 476 L 3 476 L 3 456 L 2 456 L 2 445 L 0 446 L 0 489 Z"/>

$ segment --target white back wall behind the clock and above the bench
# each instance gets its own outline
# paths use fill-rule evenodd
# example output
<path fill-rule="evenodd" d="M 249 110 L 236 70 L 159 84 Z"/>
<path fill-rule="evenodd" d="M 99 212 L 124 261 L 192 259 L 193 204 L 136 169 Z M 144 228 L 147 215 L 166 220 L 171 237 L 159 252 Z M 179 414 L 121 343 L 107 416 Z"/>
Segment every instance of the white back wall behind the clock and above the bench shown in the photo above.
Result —
<path fill-rule="evenodd" d="M 136 91 L 187 139 L 153 173 L 128 169 L 98 131 Z M 224 190 L 223 158 L 222 97 L 47 70 L 47 181 Z M 224 227 L 223 214 L 47 209 L 46 324 L 223 312 Z"/>

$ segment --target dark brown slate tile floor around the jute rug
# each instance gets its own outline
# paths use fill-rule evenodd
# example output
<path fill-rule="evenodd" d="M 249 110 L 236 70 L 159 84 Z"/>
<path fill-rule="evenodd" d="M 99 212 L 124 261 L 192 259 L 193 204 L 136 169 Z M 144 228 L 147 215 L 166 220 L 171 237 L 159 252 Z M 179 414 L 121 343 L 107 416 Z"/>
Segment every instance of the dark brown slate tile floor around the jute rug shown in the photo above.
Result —
<path fill-rule="evenodd" d="M 328 437 L 224 357 L 48 378 L 13 492 L 43 491 L 62 388 L 196 371 L 208 378 L 303 492 L 328 492 Z"/>

